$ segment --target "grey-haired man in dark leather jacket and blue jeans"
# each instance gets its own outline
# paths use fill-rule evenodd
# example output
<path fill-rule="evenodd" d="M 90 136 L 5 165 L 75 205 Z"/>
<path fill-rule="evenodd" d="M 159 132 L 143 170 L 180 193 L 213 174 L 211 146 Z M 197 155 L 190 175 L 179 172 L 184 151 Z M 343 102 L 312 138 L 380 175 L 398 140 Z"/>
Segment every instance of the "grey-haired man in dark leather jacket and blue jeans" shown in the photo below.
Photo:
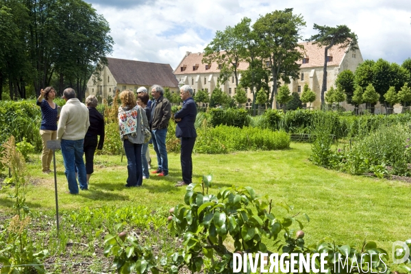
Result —
<path fill-rule="evenodd" d="M 166 135 L 171 118 L 170 101 L 164 98 L 164 89 L 159 85 L 151 87 L 153 103 L 151 104 L 151 139 L 157 154 L 158 169 L 151 173 L 158 176 L 169 175 L 169 160 L 167 158 Z"/>

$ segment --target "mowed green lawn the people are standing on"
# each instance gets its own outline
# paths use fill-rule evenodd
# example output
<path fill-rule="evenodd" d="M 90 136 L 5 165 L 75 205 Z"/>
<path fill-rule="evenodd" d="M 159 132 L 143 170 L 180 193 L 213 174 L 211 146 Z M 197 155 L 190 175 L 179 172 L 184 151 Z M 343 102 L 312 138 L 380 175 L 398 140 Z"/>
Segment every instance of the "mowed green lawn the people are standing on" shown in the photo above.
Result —
<path fill-rule="evenodd" d="M 273 203 L 294 206 L 286 210 L 275 206 L 277 216 L 297 216 L 303 221 L 306 244 L 330 237 L 338 244 L 360 246 L 373 240 L 388 252 L 395 240 L 411 238 L 410 184 L 351 176 L 314 166 L 308 158 L 310 144 L 292 143 L 282 151 L 238 152 L 229 155 L 193 155 L 193 182 L 203 174 L 214 175 L 214 188 L 251 186 L 256 193 L 268 195 Z M 155 153 L 151 149 L 155 163 Z M 59 207 L 62 211 L 82 207 L 138 206 L 169 208 L 184 203 L 185 188 L 175 188 L 181 179 L 179 154 L 169 154 L 168 177 L 151 176 L 142 188 L 125 188 L 127 160 L 120 156 L 96 155 L 95 173 L 90 190 L 68 195 L 61 153 L 56 153 Z M 27 193 L 31 210 L 55 210 L 52 173 L 41 173 L 40 155 L 27 164 L 34 179 Z M 156 164 L 153 164 L 156 167 Z M 210 190 L 216 193 L 217 190 Z M 0 191 L 0 214 L 12 213 L 12 190 Z M 1 213 L 3 212 L 3 213 Z M 302 213 L 310 216 L 308 223 Z M 295 227 L 297 229 L 297 227 Z M 270 246 L 270 242 L 267 242 Z"/>

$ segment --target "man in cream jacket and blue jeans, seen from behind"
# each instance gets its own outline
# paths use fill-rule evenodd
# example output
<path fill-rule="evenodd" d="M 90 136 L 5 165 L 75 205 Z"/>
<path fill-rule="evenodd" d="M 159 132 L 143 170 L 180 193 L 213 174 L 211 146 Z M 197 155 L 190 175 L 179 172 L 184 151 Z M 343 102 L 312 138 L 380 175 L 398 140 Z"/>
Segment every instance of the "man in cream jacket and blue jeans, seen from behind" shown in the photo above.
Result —
<path fill-rule="evenodd" d="M 80 189 L 87 190 L 86 166 L 83 160 L 84 136 L 90 121 L 88 120 L 88 109 L 84 103 L 75 98 L 73 88 L 66 88 L 63 92 L 63 105 L 57 128 L 57 140 L 61 140 L 62 155 L 66 171 L 67 182 L 69 182 L 70 194 L 78 194 L 76 167 L 79 177 Z"/>

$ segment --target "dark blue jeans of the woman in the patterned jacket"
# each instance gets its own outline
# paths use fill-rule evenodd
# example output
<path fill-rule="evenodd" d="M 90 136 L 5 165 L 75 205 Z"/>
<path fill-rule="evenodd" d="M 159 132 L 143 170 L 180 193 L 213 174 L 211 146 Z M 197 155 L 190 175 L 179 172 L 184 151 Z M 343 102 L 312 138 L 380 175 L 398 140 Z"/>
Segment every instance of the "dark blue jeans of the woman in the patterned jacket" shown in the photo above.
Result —
<path fill-rule="evenodd" d="M 142 185 L 142 164 L 141 147 L 142 144 L 133 144 L 129 140 L 123 140 L 125 157 L 127 157 L 127 186 Z"/>

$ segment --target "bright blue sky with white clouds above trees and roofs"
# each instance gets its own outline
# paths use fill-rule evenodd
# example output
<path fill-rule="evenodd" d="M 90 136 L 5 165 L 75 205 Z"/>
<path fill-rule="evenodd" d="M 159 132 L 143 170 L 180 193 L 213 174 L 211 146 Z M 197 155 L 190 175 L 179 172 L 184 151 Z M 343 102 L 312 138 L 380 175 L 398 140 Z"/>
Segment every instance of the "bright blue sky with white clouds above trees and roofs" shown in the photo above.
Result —
<path fill-rule="evenodd" d="M 274 10 L 294 8 L 306 21 L 303 38 L 314 23 L 347 25 L 358 35 L 365 59 L 401 64 L 411 58 L 410 0 L 85 0 L 110 23 L 113 58 L 179 64 L 186 51 L 199 52 L 216 30 Z"/>

